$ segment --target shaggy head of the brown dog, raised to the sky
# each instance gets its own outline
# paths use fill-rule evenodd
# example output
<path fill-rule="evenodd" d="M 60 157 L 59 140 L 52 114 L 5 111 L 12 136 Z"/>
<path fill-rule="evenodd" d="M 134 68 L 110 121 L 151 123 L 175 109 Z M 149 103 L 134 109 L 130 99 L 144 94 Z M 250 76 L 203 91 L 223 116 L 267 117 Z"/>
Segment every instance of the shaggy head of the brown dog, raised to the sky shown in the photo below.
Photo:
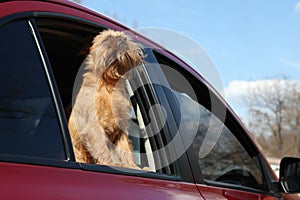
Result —
<path fill-rule="evenodd" d="M 131 68 L 143 62 L 140 44 L 124 32 L 105 30 L 94 38 L 88 69 L 107 82 L 118 81 Z"/>

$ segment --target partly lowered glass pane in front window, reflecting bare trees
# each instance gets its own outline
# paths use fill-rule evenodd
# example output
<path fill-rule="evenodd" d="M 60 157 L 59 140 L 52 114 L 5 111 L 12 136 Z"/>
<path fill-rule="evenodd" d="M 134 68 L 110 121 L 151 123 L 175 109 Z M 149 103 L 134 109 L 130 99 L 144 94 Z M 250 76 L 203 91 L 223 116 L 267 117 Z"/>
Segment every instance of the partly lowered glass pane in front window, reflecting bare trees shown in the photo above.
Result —
<path fill-rule="evenodd" d="M 176 96 L 189 132 L 197 132 L 192 147 L 203 178 L 263 189 L 263 176 L 256 165 L 256 158 L 249 156 L 233 133 L 209 110 L 188 96 L 181 93 Z M 189 109 L 185 109 L 187 105 Z M 195 110 L 200 111 L 196 119 L 193 118 Z"/>

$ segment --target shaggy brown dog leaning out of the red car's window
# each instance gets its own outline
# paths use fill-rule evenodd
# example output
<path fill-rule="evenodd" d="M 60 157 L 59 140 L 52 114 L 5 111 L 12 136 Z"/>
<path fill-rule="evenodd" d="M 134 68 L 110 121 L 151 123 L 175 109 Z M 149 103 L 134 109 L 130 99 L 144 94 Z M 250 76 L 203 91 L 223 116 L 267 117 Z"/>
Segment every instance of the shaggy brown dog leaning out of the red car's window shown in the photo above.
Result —
<path fill-rule="evenodd" d="M 69 119 L 77 162 L 139 169 L 125 132 L 130 102 L 122 77 L 141 62 L 141 46 L 123 32 L 94 38 Z"/>

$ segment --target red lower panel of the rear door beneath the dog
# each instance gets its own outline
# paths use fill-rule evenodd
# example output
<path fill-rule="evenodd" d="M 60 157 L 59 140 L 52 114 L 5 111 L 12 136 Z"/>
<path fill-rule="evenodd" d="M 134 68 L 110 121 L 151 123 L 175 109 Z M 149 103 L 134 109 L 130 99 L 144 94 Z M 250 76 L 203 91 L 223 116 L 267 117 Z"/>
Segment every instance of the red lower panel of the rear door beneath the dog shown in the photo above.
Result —
<path fill-rule="evenodd" d="M 190 183 L 28 164 L 0 163 L 0 180 L 1 199 L 200 198 Z"/>

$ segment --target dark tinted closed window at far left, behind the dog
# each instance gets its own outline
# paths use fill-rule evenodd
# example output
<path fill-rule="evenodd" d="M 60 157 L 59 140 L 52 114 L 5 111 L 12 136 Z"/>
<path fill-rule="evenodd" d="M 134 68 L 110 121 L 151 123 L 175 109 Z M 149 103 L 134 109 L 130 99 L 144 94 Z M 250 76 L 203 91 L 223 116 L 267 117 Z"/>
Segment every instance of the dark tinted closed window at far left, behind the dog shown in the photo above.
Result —
<path fill-rule="evenodd" d="M 0 44 L 0 155 L 65 160 L 56 111 L 28 22 L 1 25 Z"/>

